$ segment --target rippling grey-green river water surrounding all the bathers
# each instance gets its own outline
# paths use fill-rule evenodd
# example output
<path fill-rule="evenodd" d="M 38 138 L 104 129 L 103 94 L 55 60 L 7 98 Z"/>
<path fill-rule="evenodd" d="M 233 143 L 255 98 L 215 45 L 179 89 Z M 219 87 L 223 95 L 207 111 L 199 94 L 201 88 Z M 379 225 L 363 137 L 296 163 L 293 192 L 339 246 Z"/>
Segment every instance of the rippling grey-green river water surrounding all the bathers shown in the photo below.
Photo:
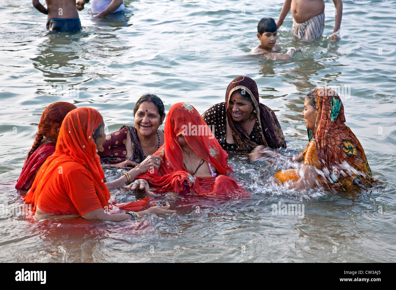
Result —
<path fill-rule="evenodd" d="M 44 1 L 42 1 L 44 2 Z M 289 13 L 280 28 L 283 51 L 301 46 L 292 61 L 247 55 L 257 46 L 257 23 L 277 19 L 283 0 L 125 1 L 124 15 L 91 17 L 80 11 L 83 30 L 48 33 L 46 15 L 30 0 L 2 1 L 0 11 L 0 203 L 21 204 L 14 189 L 44 108 L 55 101 L 93 107 L 109 132 L 133 124 L 143 93 L 158 94 L 166 111 L 188 101 L 203 113 L 224 100 L 228 83 L 247 75 L 272 108 L 289 149 L 307 145 L 301 116 L 304 97 L 341 85 L 346 124 L 362 143 L 382 188 L 357 195 L 320 189 L 273 187 L 280 168 L 264 161 L 230 158 L 233 176 L 251 193 L 243 200 L 197 198 L 169 202 L 179 214 L 143 221 L 97 223 L 82 219 L 34 222 L 0 216 L 2 262 L 281 261 L 389 262 L 395 255 L 396 84 L 394 1 L 343 1 L 342 39 L 326 3 L 324 37 L 291 37 Z M 106 170 L 109 179 L 122 170 Z M 114 191 L 131 201 L 135 193 Z M 273 215 L 272 205 L 304 205 L 304 217 Z"/>

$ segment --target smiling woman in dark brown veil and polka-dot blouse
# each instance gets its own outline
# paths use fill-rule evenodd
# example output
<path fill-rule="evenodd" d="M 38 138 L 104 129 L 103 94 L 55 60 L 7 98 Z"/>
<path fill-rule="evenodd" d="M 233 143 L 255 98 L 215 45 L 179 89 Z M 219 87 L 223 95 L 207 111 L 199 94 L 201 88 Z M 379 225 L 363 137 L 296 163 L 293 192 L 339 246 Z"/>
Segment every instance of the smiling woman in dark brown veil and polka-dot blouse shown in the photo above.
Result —
<path fill-rule="evenodd" d="M 286 148 L 278 119 L 259 102 L 257 84 L 247 76 L 232 80 L 225 102 L 209 108 L 202 118 L 227 153 L 247 154 L 258 145 Z"/>

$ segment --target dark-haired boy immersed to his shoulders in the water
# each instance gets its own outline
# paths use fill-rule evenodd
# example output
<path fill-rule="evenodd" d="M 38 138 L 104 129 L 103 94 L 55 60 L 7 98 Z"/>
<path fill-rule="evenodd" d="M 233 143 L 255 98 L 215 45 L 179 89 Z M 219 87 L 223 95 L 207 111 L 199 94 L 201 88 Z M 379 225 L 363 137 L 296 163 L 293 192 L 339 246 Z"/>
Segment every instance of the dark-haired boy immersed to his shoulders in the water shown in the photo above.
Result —
<path fill-rule="evenodd" d="M 276 53 L 280 50 L 280 45 L 276 44 L 278 38 L 278 28 L 272 18 L 263 18 L 257 25 L 257 38 L 260 44 L 251 50 L 252 53 L 263 53 L 280 60 L 289 60 L 295 52 L 301 48 L 289 48 L 286 53 Z"/>

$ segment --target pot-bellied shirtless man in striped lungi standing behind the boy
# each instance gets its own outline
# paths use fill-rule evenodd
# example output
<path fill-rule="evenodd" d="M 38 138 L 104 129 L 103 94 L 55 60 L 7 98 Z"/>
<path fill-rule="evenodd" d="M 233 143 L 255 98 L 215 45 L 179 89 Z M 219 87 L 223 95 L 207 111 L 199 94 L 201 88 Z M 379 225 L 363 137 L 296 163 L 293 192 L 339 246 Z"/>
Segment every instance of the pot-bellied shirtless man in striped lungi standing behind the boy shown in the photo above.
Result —
<path fill-rule="evenodd" d="M 339 30 L 343 16 L 342 0 L 333 0 L 335 6 L 335 25 L 331 40 L 340 39 Z M 276 26 L 279 28 L 287 13 L 293 15 L 293 35 L 300 39 L 314 39 L 322 36 L 324 29 L 323 0 L 285 0 Z"/>

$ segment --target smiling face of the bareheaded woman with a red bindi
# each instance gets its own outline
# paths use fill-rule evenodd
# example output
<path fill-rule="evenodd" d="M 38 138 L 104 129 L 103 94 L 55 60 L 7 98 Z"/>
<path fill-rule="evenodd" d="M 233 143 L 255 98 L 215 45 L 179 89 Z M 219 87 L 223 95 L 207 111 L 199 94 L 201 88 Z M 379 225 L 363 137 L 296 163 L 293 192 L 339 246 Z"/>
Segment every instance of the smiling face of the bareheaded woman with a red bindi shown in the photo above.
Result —
<path fill-rule="evenodd" d="M 143 102 L 135 114 L 135 127 L 143 136 L 156 134 L 160 127 L 161 117 L 154 103 Z"/>

